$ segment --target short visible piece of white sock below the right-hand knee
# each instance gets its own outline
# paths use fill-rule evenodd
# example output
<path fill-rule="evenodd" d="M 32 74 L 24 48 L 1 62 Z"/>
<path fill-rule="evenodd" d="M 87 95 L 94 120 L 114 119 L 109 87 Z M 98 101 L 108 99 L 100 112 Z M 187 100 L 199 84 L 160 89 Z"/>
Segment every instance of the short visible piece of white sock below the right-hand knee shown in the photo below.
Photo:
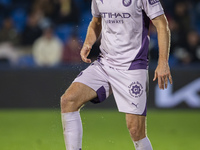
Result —
<path fill-rule="evenodd" d="M 153 150 L 148 137 L 133 142 L 136 150 Z"/>

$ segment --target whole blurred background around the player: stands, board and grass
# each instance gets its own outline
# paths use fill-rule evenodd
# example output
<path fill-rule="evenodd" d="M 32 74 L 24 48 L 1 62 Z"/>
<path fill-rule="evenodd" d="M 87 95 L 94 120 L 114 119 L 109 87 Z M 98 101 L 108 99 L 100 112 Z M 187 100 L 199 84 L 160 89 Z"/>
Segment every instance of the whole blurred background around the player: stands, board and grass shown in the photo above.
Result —
<path fill-rule="evenodd" d="M 0 0 L 0 149 L 64 150 L 60 96 L 80 70 L 91 0 Z M 171 29 L 174 84 L 152 82 L 157 64 L 150 29 L 148 133 L 155 150 L 199 150 L 200 2 L 161 0 Z M 99 53 L 99 41 L 90 58 Z M 133 149 L 113 97 L 82 109 L 84 150 Z"/>

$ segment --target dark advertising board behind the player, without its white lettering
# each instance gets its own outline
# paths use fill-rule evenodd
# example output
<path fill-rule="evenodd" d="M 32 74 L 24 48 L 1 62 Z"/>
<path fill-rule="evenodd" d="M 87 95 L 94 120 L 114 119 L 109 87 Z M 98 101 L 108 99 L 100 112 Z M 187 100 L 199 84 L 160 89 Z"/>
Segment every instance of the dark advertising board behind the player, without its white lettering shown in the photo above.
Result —
<path fill-rule="evenodd" d="M 77 66 L 78 67 L 78 66 Z M 69 68 L 35 68 L 35 69 L 4 69 L 0 72 L 0 107 L 1 108 L 58 108 L 60 97 L 79 74 L 79 69 Z M 73 69 L 74 68 L 74 69 Z M 187 86 L 200 78 L 200 68 L 173 68 L 173 92 Z M 150 69 L 149 108 L 157 108 L 155 100 L 155 86 L 153 82 L 154 69 Z M 200 92 L 200 85 L 199 85 Z M 195 94 L 195 93 L 194 93 Z M 200 95 L 199 95 L 200 101 Z M 86 108 L 116 107 L 113 96 L 102 104 L 88 103 Z M 184 102 L 174 108 L 190 108 Z"/>

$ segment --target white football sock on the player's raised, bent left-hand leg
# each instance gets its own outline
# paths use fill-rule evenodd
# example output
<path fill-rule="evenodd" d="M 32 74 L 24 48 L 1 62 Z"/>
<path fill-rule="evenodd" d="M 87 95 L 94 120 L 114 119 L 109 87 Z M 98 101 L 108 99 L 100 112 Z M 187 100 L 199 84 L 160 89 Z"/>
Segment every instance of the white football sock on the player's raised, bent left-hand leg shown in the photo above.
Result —
<path fill-rule="evenodd" d="M 83 128 L 79 111 L 62 113 L 64 140 L 67 150 L 81 150 Z"/>

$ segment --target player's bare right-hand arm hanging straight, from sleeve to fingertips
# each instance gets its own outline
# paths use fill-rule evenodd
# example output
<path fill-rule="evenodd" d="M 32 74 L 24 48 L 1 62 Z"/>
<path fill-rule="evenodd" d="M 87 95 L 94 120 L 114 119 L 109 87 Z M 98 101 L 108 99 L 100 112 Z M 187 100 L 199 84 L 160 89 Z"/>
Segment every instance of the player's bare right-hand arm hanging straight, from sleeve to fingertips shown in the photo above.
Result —
<path fill-rule="evenodd" d="M 168 79 L 172 84 L 172 76 L 168 64 L 169 52 L 170 52 L 170 30 L 168 21 L 165 15 L 158 16 L 152 20 L 152 23 L 156 27 L 158 34 L 159 45 L 159 59 L 158 66 L 155 70 L 153 81 L 158 79 L 158 85 L 160 89 L 167 88 Z"/>

